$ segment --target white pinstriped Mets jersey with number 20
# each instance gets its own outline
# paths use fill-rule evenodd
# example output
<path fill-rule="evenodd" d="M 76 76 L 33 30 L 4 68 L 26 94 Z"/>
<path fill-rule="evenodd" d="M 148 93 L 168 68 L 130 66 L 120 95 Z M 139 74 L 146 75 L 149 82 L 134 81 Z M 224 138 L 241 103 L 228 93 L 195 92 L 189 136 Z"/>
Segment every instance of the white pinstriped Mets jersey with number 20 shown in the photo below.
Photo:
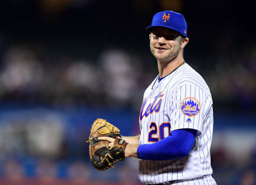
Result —
<path fill-rule="evenodd" d="M 209 87 L 187 63 L 157 81 L 152 90 L 155 80 L 143 97 L 139 115 L 140 144 L 157 142 L 181 128 L 193 128 L 197 135 L 186 157 L 139 159 L 139 179 L 149 184 L 172 184 L 170 181 L 175 184 L 189 181 L 193 181 L 192 184 L 200 184 L 200 181 L 201 184 L 216 184 L 211 176 L 213 109 Z"/>

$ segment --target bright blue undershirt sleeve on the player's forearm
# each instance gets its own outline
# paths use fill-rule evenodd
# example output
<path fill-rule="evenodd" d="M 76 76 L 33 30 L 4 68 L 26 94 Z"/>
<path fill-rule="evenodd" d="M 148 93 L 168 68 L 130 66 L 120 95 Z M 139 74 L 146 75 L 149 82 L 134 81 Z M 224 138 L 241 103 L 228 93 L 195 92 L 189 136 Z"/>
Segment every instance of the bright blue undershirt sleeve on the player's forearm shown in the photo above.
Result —
<path fill-rule="evenodd" d="M 171 135 L 153 144 L 141 144 L 137 149 L 140 159 L 170 160 L 185 157 L 193 147 L 197 130 L 174 130 Z"/>

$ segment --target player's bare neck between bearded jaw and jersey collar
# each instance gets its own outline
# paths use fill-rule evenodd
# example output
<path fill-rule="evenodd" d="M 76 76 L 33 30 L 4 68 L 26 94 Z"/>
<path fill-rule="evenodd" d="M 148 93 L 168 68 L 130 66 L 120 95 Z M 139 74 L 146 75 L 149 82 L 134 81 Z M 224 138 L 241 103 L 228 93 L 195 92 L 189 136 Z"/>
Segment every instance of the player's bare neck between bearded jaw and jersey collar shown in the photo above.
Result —
<path fill-rule="evenodd" d="M 184 62 L 183 56 L 177 56 L 170 62 L 161 62 L 157 60 L 158 71 L 159 71 L 159 78 L 169 75 L 175 70 L 178 66 L 180 66 Z"/>

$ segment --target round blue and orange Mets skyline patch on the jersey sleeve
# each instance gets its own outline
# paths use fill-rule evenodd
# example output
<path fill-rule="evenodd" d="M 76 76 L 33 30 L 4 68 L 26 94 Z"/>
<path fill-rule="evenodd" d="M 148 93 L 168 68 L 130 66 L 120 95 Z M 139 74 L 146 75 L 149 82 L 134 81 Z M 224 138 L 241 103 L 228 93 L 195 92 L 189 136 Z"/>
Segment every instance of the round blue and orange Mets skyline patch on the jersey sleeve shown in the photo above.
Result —
<path fill-rule="evenodd" d="M 180 109 L 183 114 L 186 116 L 196 116 L 200 109 L 200 103 L 197 99 L 188 97 L 181 101 Z"/>

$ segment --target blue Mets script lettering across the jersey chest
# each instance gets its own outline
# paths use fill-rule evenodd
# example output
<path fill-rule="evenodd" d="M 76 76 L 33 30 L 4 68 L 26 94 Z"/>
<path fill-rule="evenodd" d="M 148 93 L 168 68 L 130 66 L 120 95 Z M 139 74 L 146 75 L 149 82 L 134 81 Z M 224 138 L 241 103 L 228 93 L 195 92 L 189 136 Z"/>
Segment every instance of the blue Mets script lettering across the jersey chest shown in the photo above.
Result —
<path fill-rule="evenodd" d="M 162 97 L 164 96 L 164 94 L 161 94 L 161 92 L 158 93 L 158 95 L 156 95 L 154 97 L 154 101 L 152 103 L 149 103 L 148 107 L 146 108 L 146 110 L 144 111 L 145 105 L 147 103 L 147 98 L 145 98 L 142 102 L 142 106 L 140 109 L 140 120 L 142 120 L 142 118 L 148 117 L 149 114 L 152 114 L 153 112 L 158 112 L 161 108 L 161 104 L 162 104 Z"/>

